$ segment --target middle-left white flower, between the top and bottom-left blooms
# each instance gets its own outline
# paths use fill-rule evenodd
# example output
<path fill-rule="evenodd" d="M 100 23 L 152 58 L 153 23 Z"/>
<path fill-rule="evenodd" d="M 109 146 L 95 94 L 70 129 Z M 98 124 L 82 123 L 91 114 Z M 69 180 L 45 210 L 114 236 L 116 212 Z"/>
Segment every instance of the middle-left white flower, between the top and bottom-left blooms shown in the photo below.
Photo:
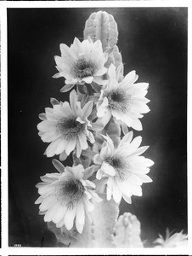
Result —
<path fill-rule="evenodd" d="M 82 149 L 88 148 L 87 139 L 94 143 L 93 133 L 88 131 L 88 127 L 91 127 L 88 116 L 92 108 L 93 102 L 81 108 L 75 90 L 71 91 L 70 104 L 60 102 L 53 108 L 45 108 L 44 119 L 37 129 L 42 141 L 50 143 L 45 151 L 48 157 L 54 154 L 69 155 L 74 149 L 76 156 L 80 157 Z"/>

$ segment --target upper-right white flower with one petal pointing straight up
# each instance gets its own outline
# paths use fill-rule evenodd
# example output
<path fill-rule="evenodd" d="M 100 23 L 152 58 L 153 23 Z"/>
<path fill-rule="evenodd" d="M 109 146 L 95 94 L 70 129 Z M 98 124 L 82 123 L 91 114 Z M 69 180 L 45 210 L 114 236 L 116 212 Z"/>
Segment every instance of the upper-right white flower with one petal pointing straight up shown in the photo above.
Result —
<path fill-rule="evenodd" d="M 140 118 L 142 113 L 148 113 L 150 102 L 144 96 L 147 94 L 147 83 L 134 84 L 138 79 L 135 71 L 127 74 L 120 83 L 117 81 L 116 67 L 111 64 L 108 70 L 109 84 L 101 90 L 97 115 L 106 125 L 113 116 L 117 123 L 125 123 L 128 127 L 141 131 Z"/>

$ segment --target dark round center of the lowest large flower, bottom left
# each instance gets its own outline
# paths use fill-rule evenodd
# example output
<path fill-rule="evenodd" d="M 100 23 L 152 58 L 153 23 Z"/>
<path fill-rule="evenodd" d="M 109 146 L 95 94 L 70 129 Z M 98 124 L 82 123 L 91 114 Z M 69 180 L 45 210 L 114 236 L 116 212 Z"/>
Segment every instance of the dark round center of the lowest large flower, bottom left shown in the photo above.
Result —
<path fill-rule="evenodd" d="M 69 179 L 59 182 L 57 190 L 58 200 L 68 208 L 73 208 L 74 204 L 82 198 L 85 188 L 78 179 Z"/>

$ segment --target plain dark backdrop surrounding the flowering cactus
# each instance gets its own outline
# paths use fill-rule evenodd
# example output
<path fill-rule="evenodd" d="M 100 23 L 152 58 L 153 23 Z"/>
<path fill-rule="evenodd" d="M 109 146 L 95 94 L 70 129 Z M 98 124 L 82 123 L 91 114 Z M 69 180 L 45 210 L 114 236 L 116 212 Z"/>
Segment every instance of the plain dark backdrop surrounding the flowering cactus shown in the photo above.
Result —
<path fill-rule="evenodd" d="M 100 9 L 8 9 L 8 171 L 9 246 L 54 247 L 38 206 L 35 184 L 54 172 L 43 155 L 47 143 L 37 135 L 38 113 L 50 107 L 50 97 L 61 101 L 68 93 L 59 89 L 65 79 L 57 73 L 54 55 L 59 44 L 82 39 L 85 21 Z M 141 222 L 149 246 L 158 233 L 187 231 L 187 9 L 111 8 L 118 25 L 118 47 L 125 74 L 138 73 L 149 82 L 150 113 L 144 114 L 144 154 L 155 161 L 143 185 L 143 196 L 133 204 L 121 202 L 121 213 L 132 212 Z M 71 165 L 71 160 L 65 163 Z"/>

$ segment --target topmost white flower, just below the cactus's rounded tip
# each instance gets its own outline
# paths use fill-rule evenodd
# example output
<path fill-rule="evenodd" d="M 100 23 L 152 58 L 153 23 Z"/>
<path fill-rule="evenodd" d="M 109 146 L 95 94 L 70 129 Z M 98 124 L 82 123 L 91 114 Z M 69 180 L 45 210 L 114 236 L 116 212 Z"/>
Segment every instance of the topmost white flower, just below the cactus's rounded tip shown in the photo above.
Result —
<path fill-rule="evenodd" d="M 91 38 L 83 40 L 75 38 L 71 47 L 60 44 L 61 56 L 55 56 L 59 73 L 54 78 L 64 77 L 65 84 L 104 84 L 101 76 L 107 72 L 104 63 L 107 55 L 103 53 L 100 40 L 93 43 Z"/>

